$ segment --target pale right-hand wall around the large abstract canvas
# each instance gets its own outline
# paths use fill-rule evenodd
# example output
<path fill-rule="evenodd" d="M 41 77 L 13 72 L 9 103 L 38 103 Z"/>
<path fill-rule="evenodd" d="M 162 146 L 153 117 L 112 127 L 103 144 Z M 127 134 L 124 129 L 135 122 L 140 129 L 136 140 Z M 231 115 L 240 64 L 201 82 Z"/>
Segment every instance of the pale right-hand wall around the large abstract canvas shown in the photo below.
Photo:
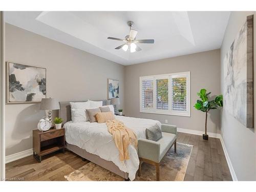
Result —
<path fill-rule="evenodd" d="M 241 26 L 244 24 L 247 15 L 255 14 L 255 12 L 231 12 L 224 39 L 221 46 L 221 92 L 224 94 L 224 74 L 223 60 L 230 48 L 234 38 L 237 36 Z M 255 58 L 256 58 L 256 22 L 254 15 L 254 109 L 255 109 Z M 254 110 L 254 127 L 256 113 Z M 222 111 L 221 121 L 222 137 L 231 160 L 232 166 L 238 180 L 256 180 L 256 134 L 254 129 L 248 129 L 242 125 L 237 119 L 230 115 L 225 106 Z"/>

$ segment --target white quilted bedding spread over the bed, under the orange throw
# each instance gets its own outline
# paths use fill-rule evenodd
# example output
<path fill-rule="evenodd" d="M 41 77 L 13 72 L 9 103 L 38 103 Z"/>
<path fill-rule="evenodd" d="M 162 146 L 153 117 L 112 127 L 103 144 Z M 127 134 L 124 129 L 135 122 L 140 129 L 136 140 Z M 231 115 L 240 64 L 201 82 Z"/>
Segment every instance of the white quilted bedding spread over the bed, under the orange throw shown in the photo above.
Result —
<path fill-rule="evenodd" d="M 141 119 L 133 117 L 115 116 L 116 119 L 123 121 L 124 124 L 132 129 L 137 138 L 146 138 L 145 129 L 161 123 L 152 119 Z M 130 159 L 124 162 L 119 160 L 119 152 L 114 143 L 112 135 L 108 132 L 105 123 L 90 123 L 69 121 L 64 124 L 66 141 L 69 144 L 79 146 L 89 153 L 98 155 L 100 158 L 112 161 L 120 170 L 129 174 L 130 180 L 135 179 L 136 172 L 139 168 L 139 158 L 136 149 L 130 145 Z"/>

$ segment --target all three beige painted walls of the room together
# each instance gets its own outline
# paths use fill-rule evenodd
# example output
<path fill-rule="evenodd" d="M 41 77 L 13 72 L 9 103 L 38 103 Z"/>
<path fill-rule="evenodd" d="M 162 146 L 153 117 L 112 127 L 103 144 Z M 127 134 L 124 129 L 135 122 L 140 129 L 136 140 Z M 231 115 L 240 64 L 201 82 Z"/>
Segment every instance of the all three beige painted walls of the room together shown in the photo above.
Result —
<path fill-rule="evenodd" d="M 58 98 L 60 101 L 106 99 L 107 79 L 119 79 L 120 99 L 125 107 L 126 116 L 157 119 L 162 123 L 167 119 L 169 124 L 176 124 L 180 128 L 204 131 L 205 115 L 193 108 L 197 100 L 196 93 L 201 88 L 206 88 L 213 94 L 224 93 L 223 59 L 246 16 L 250 14 L 254 12 L 231 13 L 221 50 L 126 67 L 7 24 L 6 60 L 47 68 L 47 97 Z M 254 18 L 254 26 L 256 26 L 255 20 Z M 256 37 L 255 33 L 256 30 L 254 37 Z M 254 45 L 256 45 L 255 39 Z M 255 52 L 254 46 L 254 58 L 256 58 Z M 190 71 L 191 117 L 139 112 L 140 76 L 184 71 Z M 255 66 L 254 74 L 256 74 Z M 256 83 L 254 83 L 254 95 L 256 95 L 255 85 Z M 256 103 L 255 98 L 254 96 L 254 103 Z M 38 120 L 44 115 L 44 111 L 39 110 L 39 104 L 6 104 L 7 156 L 32 148 L 32 130 L 36 129 Z M 254 113 L 255 118 L 256 113 Z M 210 112 L 208 131 L 221 132 L 238 180 L 256 180 L 254 129 L 247 129 L 224 108 L 221 120 L 219 110 Z"/>

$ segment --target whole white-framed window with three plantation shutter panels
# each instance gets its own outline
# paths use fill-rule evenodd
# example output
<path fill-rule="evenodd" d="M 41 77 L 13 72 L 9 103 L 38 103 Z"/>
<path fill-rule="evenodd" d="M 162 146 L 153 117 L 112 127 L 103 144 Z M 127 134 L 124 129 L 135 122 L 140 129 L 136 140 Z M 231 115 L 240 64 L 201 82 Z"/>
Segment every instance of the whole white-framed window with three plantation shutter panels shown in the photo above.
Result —
<path fill-rule="evenodd" d="M 140 77 L 140 112 L 190 116 L 190 72 Z"/>

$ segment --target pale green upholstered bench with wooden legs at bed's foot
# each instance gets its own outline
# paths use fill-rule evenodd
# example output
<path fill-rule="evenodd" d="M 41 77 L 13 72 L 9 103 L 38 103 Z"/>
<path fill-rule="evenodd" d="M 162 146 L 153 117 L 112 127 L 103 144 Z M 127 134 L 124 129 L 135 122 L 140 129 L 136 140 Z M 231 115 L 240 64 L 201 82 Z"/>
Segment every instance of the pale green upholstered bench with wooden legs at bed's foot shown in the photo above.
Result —
<path fill-rule="evenodd" d="M 143 162 L 150 163 L 156 166 L 157 181 L 160 180 L 160 162 L 173 145 L 176 153 L 177 127 L 175 125 L 162 124 L 161 130 L 162 138 L 158 141 L 138 140 L 139 176 L 141 176 L 141 164 Z"/>

